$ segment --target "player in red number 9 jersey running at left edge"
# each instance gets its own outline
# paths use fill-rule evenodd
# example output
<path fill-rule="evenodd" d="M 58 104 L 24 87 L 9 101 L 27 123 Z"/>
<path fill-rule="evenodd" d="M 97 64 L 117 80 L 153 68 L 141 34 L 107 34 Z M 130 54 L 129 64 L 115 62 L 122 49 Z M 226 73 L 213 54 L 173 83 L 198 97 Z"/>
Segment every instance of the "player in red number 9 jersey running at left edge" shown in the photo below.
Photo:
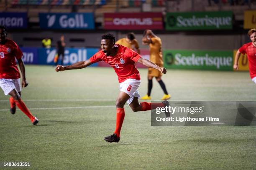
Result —
<path fill-rule="evenodd" d="M 21 58 L 23 53 L 18 45 L 13 40 L 7 39 L 6 36 L 6 28 L 4 26 L 0 26 L 0 87 L 3 89 L 5 95 L 9 94 L 11 96 L 11 114 L 15 114 L 17 105 L 19 109 L 30 118 L 33 125 L 37 125 L 38 119 L 31 114 L 20 98 L 20 72 L 15 58 L 18 60 L 22 74 L 22 87 L 26 87 L 28 82 L 26 81 L 25 66 Z"/>

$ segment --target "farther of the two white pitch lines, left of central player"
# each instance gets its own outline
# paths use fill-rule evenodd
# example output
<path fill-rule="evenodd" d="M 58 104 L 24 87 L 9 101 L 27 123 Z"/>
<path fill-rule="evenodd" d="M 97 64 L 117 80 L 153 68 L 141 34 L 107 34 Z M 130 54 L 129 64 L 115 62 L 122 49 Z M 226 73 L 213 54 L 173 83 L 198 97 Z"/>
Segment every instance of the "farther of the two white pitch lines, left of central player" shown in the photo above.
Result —
<path fill-rule="evenodd" d="M 0 102 L 8 102 L 9 100 L 0 100 Z M 113 99 L 25 99 L 28 102 L 90 102 L 90 101 L 115 101 Z"/>

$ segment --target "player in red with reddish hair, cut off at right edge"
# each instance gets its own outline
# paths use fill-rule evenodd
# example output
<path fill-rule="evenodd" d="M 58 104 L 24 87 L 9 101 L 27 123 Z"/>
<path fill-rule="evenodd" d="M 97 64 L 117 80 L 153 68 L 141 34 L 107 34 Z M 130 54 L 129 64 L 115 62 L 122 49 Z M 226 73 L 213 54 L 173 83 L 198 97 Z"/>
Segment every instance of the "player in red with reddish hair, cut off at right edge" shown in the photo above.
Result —
<path fill-rule="evenodd" d="M 256 83 L 256 28 L 253 28 L 248 31 L 248 36 L 251 39 L 251 42 L 244 44 L 239 50 L 236 52 L 235 62 L 233 68 L 238 70 L 238 60 L 242 54 L 247 54 L 249 60 L 249 72 L 251 79 Z"/>

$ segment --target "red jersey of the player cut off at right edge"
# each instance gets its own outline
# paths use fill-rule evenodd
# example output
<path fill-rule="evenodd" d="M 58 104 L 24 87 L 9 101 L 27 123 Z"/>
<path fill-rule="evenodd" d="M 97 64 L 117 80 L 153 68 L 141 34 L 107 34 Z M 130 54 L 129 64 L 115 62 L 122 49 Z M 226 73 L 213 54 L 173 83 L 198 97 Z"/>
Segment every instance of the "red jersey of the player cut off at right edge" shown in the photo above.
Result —
<path fill-rule="evenodd" d="M 247 54 L 250 76 L 251 78 L 256 77 L 256 47 L 253 46 L 252 42 L 249 42 L 239 48 L 239 52 Z"/>

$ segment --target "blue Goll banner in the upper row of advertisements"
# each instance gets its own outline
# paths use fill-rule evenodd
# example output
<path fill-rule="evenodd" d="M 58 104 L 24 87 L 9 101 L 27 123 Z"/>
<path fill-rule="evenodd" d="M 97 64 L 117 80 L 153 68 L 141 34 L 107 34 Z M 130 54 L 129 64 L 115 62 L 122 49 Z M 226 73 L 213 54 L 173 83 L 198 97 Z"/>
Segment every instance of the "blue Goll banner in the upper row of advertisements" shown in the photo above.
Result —
<path fill-rule="evenodd" d="M 43 29 L 94 29 L 93 13 L 40 13 Z"/>

